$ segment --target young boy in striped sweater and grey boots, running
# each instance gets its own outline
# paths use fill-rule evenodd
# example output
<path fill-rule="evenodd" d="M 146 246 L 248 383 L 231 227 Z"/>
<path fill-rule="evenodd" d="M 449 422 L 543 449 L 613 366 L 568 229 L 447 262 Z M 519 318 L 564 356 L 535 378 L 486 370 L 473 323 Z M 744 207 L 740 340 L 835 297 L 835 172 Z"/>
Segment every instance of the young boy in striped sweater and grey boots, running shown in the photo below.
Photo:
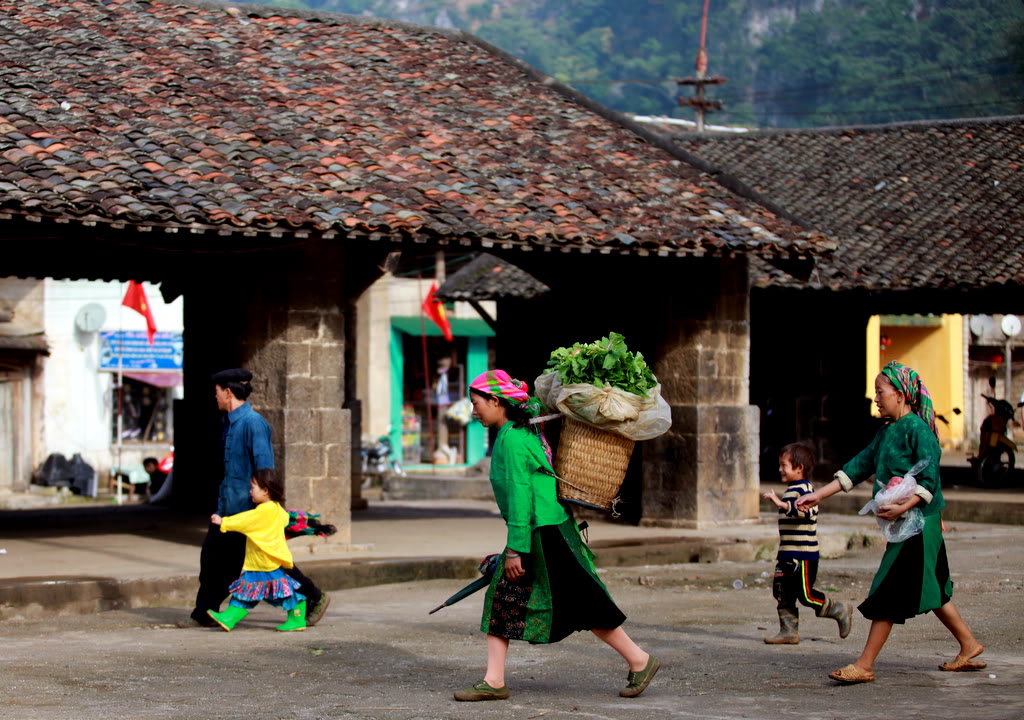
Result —
<path fill-rule="evenodd" d="M 778 454 L 778 473 L 786 484 L 779 498 L 775 491 L 762 496 L 778 508 L 778 556 L 772 595 L 778 602 L 779 632 L 766 637 L 769 645 L 796 645 L 800 642 L 800 611 L 797 601 L 814 608 L 818 618 L 831 618 L 839 624 L 839 636 L 850 634 L 852 608 L 825 597 L 814 587 L 818 574 L 818 511 L 816 507 L 798 510 L 797 500 L 813 492 L 811 472 L 814 455 L 799 442 L 787 444 Z"/>

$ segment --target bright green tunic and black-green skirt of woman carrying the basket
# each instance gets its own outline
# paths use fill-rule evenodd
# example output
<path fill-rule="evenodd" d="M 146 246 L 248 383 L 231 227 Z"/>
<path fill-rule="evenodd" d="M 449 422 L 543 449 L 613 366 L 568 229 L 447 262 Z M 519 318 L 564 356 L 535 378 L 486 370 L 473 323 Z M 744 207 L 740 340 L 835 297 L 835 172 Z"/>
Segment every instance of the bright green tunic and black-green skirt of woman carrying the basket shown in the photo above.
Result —
<path fill-rule="evenodd" d="M 580 538 L 571 513 L 558 502 L 551 465 L 532 430 L 517 428 L 511 422 L 499 430 L 490 458 L 490 486 L 508 528 L 506 546 L 522 553 L 523 564 L 528 567 L 528 582 L 503 582 L 503 554 L 484 598 L 480 630 L 529 642 L 557 642 L 564 637 L 565 631 L 560 629 L 556 630 L 558 634 L 552 634 L 554 605 L 566 602 L 566 599 L 559 593 L 552 593 L 552 578 L 549 575 L 549 571 L 563 573 L 564 565 L 560 570 L 555 569 L 551 564 L 553 558 L 546 557 L 545 553 L 546 548 L 551 551 L 562 545 L 567 548 L 567 553 L 559 552 L 558 555 L 571 558 L 568 562 L 579 565 L 586 577 L 581 586 L 587 586 L 580 588 L 581 595 L 568 597 L 566 604 L 577 602 L 579 597 L 579 602 L 592 606 L 595 604 L 594 596 L 584 593 L 597 592 L 602 597 L 596 604 L 606 603 L 613 608 L 610 615 L 614 620 L 608 625 L 617 626 L 625 617 L 614 607 L 607 588 L 598 578 L 594 554 Z M 542 542 L 542 538 L 547 540 Z M 550 545 L 552 542 L 558 545 Z M 556 578 L 556 584 L 561 586 L 558 580 Z M 567 615 L 571 608 L 565 608 L 563 612 Z M 559 627 L 563 623 L 560 621 Z"/>

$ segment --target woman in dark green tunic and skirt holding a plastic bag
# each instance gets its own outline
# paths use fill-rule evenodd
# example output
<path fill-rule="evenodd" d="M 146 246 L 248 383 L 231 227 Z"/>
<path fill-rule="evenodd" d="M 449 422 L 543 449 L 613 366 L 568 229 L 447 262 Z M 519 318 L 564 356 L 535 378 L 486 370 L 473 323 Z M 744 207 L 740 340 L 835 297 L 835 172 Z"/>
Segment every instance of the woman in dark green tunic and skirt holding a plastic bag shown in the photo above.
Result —
<path fill-rule="evenodd" d="M 953 584 L 949 579 L 939 514 L 945 506 L 939 481 L 942 450 L 935 430 L 931 396 L 918 373 L 893 362 L 874 379 L 874 404 L 889 422 L 867 448 L 836 473 L 831 482 L 805 495 L 797 501 L 797 506 L 801 510 L 814 507 L 840 491 L 849 492 L 871 475 L 874 475 L 871 495 L 878 495 L 891 478 L 902 477 L 914 463 L 927 458 L 928 466 L 916 476 L 913 495 L 902 502 L 883 505 L 878 512 L 884 520 L 895 520 L 911 508 L 920 508 L 924 528 L 903 542 L 886 546 L 867 599 L 858 608 L 871 621 L 864 649 L 856 662 L 828 677 L 848 684 L 870 682 L 874 679 L 874 660 L 893 625 L 929 611 L 935 612 L 959 643 L 956 658 L 943 663 L 939 669 L 982 670 L 986 664 L 973 659 L 985 648 L 974 637 L 951 599 Z"/>

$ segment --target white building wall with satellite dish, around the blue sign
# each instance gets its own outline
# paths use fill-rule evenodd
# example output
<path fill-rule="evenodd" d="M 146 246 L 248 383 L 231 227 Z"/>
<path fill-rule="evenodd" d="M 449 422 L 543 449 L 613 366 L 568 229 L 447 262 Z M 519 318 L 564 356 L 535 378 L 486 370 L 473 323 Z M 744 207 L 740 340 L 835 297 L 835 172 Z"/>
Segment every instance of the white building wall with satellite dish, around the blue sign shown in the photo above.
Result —
<path fill-rule="evenodd" d="M 43 371 L 43 448 L 37 463 L 50 453 L 61 453 L 69 459 L 81 453 L 100 478 L 106 476 L 114 460 L 111 430 L 114 410 L 110 399 L 114 373 L 97 370 L 98 333 L 79 331 L 75 315 L 84 305 L 96 303 L 106 312 L 102 331 L 144 331 L 145 319 L 121 305 L 127 287 L 127 283 L 102 281 L 45 281 L 43 326 L 50 355 Z M 143 284 L 143 288 L 157 330 L 181 332 L 181 298 L 167 304 L 157 286 Z M 181 388 L 175 391 L 180 392 Z M 148 455 L 162 457 L 169 449 L 169 444 L 126 443 L 124 464 L 140 462 Z"/>

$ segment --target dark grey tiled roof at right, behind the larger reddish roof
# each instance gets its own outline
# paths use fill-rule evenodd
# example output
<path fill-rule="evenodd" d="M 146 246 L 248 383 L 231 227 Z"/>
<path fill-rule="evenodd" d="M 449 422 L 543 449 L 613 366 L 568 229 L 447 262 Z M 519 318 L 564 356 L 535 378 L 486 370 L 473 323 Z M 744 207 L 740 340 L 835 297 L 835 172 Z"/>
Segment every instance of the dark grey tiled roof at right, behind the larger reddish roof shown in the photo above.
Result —
<path fill-rule="evenodd" d="M 844 239 L 815 285 L 1024 285 L 1024 117 L 676 140 Z M 757 268 L 761 285 L 793 283 Z"/>

